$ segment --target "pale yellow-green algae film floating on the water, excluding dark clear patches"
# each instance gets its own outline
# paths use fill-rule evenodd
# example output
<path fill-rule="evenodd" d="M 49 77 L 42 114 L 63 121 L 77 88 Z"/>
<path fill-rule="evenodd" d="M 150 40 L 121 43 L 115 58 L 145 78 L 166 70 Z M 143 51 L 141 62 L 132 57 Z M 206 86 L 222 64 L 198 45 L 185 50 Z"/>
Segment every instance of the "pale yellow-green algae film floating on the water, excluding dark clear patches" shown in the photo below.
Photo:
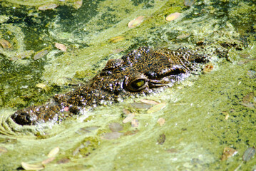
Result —
<path fill-rule="evenodd" d="M 57 41 L 65 40 L 66 43 L 74 44 L 69 44 L 71 48 L 67 53 L 58 55 L 53 51 L 51 55 L 46 56 L 48 64 L 43 66 L 44 71 L 41 72 L 43 81 L 48 82 L 49 85 L 68 83 L 63 77 L 90 78 L 103 68 L 108 58 L 119 58 L 123 54 L 109 56 L 117 48 L 126 51 L 141 45 L 170 48 L 186 45 L 193 48 L 195 43 L 203 41 L 207 53 L 212 55 L 214 68 L 210 73 L 192 76 L 173 88 L 146 97 L 167 105 L 162 110 L 150 114 L 145 110 L 134 110 L 135 119 L 139 121 L 138 128 L 132 128 L 130 123 L 124 124 L 122 130 L 124 135 L 116 140 L 101 138 L 109 132 L 110 123 L 122 123 L 123 109 L 130 109 L 128 103 L 133 103 L 135 99 L 127 99 L 123 103 L 111 106 L 99 106 L 95 110 L 85 112 L 78 119 L 75 116 L 74 119 L 66 120 L 60 125 L 46 124 L 37 127 L 17 126 L 9 118 L 14 111 L 1 110 L 4 117 L 0 117 L 0 136 L 3 140 L 0 146 L 6 147 L 8 152 L 0 155 L 0 161 L 12 162 L 0 163 L 0 170 L 16 170 L 21 162 L 41 162 L 56 146 L 61 149 L 57 160 L 64 157 L 70 161 L 57 164 L 54 160 L 46 165 L 45 170 L 235 170 L 242 162 L 242 154 L 247 147 L 256 145 L 255 108 L 249 108 L 243 102 L 246 95 L 255 92 L 255 78 L 250 77 L 248 71 L 256 71 L 256 43 L 251 36 L 252 42 L 245 48 L 242 42 L 238 41 L 240 33 L 236 31 L 237 28 L 232 25 L 231 20 L 211 17 L 215 13 L 217 15 L 219 6 L 212 6 L 211 4 L 215 5 L 215 3 L 208 2 L 209 4 L 205 6 L 196 3 L 195 11 L 191 9 L 183 11 L 185 7 L 180 2 L 177 6 L 173 1 L 168 1 L 166 4 L 163 2 L 164 5 L 160 4 L 158 7 L 155 3 L 155 9 L 151 7 L 148 18 L 143 24 L 133 29 L 127 28 L 128 21 L 142 15 L 136 14 L 135 7 L 140 9 L 137 11 L 145 12 L 147 6 L 128 4 L 129 9 L 134 7 L 135 10 L 130 14 L 131 16 L 124 17 L 123 22 L 122 20 L 116 24 L 107 22 L 104 25 L 103 21 L 96 19 L 99 16 L 96 16 L 91 19 L 91 23 L 90 21 L 87 23 L 88 28 L 91 29 L 98 21 L 96 28 L 102 29 L 106 35 L 98 36 L 97 33 L 101 31 L 97 32 L 97 30 L 91 32 L 96 35 L 84 39 L 79 39 L 75 32 L 62 31 L 63 36 L 57 35 Z M 98 7 L 98 12 L 106 10 L 104 7 L 107 6 L 108 3 L 103 1 Z M 202 16 L 198 16 L 199 13 L 195 14 L 197 9 L 205 9 L 206 12 L 202 11 L 200 13 Z M 102 14 L 108 14 L 106 11 Z M 124 14 L 124 12 L 120 13 L 123 9 L 117 11 L 118 14 L 115 14 L 111 9 L 109 14 L 118 17 Z M 183 17 L 177 21 L 166 22 L 165 16 L 175 11 L 183 12 Z M 108 17 L 107 19 L 111 19 L 110 16 Z M 240 18 L 240 15 L 237 14 L 235 17 Z M 246 24 L 249 23 L 247 21 Z M 53 22 L 50 25 L 55 26 L 55 24 L 56 22 Z M 102 26 L 98 26 L 100 24 Z M 120 28 L 116 28 L 118 26 Z M 104 32 L 104 29 L 107 31 Z M 49 30 L 53 31 L 53 29 Z M 79 31 L 82 32 L 81 28 Z M 109 38 L 120 33 L 125 34 L 126 40 L 118 43 L 108 41 Z M 185 41 L 176 38 L 183 33 L 190 34 Z M 54 37 L 53 33 L 50 34 Z M 71 35 L 76 37 L 72 40 Z M 83 33 L 81 35 L 83 36 Z M 88 43 L 90 46 L 83 46 L 82 43 Z M 227 53 L 228 61 L 225 58 L 218 59 L 211 52 L 222 48 L 220 46 L 222 43 L 233 47 Z M 235 44 L 238 46 L 234 46 Z M 11 91 L 11 88 L 2 89 L 5 89 L 5 93 Z M 59 90 L 58 87 L 56 89 Z M 31 88 L 25 90 L 25 93 L 30 94 L 29 98 L 33 98 L 42 92 Z M 50 93 L 46 97 L 37 96 L 41 99 L 39 103 L 43 103 L 43 98 L 49 95 Z M 17 100 L 15 98 L 16 95 L 11 98 L 16 102 L 11 107 L 19 103 L 24 105 L 22 100 L 26 98 L 17 98 Z M 142 98 L 145 97 L 136 100 Z M 255 100 L 251 99 L 250 103 L 255 103 Z M 157 123 L 159 118 L 165 118 L 163 126 Z M 81 133 L 82 128 L 88 127 L 97 127 L 97 129 L 90 133 Z M 165 135 L 162 145 L 158 143 L 160 135 Z M 6 141 L 8 138 L 14 141 Z M 88 141 L 91 143 L 87 143 Z M 233 147 L 238 153 L 221 161 L 220 157 L 225 147 Z M 75 156 L 73 156 L 74 150 L 78 150 Z M 256 167 L 255 162 L 255 158 L 252 158 L 244 163 L 240 170 L 252 170 Z"/>

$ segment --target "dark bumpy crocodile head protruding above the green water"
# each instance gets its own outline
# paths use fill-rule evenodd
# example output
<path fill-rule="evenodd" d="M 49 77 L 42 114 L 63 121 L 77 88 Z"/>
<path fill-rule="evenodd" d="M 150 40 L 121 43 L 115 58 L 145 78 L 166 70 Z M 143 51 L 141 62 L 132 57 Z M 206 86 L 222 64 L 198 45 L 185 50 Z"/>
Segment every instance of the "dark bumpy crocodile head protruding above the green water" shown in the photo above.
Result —
<path fill-rule="evenodd" d="M 55 95 L 46 105 L 16 111 L 11 118 L 19 125 L 56 122 L 85 107 L 118 101 L 130 95 L 147 95 L 188 77 L 207 57 L 188 49 L 177 51 L 141 47 L 120 59 L 111 59 L 88 84 L 64 95 Z"/>

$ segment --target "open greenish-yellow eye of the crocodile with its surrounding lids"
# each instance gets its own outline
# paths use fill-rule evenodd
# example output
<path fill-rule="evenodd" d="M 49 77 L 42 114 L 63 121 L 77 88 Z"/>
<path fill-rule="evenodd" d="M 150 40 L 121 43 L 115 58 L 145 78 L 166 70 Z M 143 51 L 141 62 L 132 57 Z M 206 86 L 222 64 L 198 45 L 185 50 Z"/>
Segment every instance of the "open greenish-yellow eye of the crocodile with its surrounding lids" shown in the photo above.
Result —
<path fill-rule="evenodd" d="M 138 92 L 148 86 L 148 79 L 145 76 L 126 78 L 126 88 L 131 92 Z"/>

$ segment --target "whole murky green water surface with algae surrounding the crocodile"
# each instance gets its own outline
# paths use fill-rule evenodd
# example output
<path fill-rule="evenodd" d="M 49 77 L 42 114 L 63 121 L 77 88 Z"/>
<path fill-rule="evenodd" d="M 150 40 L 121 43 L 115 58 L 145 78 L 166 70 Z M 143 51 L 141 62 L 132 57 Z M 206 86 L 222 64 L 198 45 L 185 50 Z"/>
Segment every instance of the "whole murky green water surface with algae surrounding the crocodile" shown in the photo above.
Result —
<path fill-rule="evenodd" d="M 256 170 L 255 11 L 255 1 L 1 1 L 0 170 Z M 59 124 L 9 118 L 140 46 L 200 47 L 210 65 Z"/>

